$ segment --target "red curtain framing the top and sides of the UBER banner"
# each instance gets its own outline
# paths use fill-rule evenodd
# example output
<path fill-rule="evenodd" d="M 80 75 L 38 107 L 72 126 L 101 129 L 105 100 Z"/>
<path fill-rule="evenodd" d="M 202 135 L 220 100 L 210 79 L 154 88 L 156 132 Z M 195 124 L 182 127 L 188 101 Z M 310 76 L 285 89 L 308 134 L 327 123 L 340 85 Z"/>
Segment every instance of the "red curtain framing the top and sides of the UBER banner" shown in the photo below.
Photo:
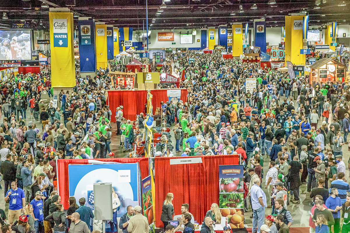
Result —
<path fill-rule="evenodd" d="M 144 179 L 149 174 L 148 158 L 117 158 L 117 159 L 95 159 L 106 162 L 119 162 L 119 163 L 139 163 L 141 179 Z M 61 196 L 61 204 L 64 209 L 68 209 L 69 204 L 69 176 L 68 165 L 69 164 L 88 164 L 87 159 L 59 159 L 57 160 L 57 184 L 58 193 Z"/>

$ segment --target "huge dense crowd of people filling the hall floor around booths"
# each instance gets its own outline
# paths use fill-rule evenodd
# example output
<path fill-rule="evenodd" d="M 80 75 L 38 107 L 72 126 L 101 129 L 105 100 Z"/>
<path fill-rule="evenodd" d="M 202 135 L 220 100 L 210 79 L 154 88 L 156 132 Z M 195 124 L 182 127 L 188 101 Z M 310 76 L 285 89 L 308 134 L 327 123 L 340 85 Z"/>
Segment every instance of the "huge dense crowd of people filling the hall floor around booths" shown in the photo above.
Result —
<path fill-rule="evenodd" d="M 174 132 L 173 154 L 238 154 L 248 187 L 245 210 L 252 212 L 252 232 L 288 232 L 293 225 L 288 205 L 301 202 L 302 185 L 313 203 L 310 232 L 323 233 L 334 225 L 337 233 L 341 218 L 342 232 L 347 232 L 350 188 L 343 151 L 350 148 L 350 85 L 338 80 L 310 82 L 308 75 L 289 77 L 287 72 L 259 63 L 223 59 L 220 53 L 186 51 L 176 55 L 173 68 L 180 76 L 184 74 L 180 88 L 188 90 L 188 97 L 161 103 Z M 172 59 L 171 54 L 167 59 Z M 7 216 L 0 210 L 3 233 L 11 228 L 21 233 L 23 229 L 25 233 L 47 233 L 52 228 L 61 233 L 68 229 L 65 218 L 70 219 L 69 224 L 75 223 L 71 232 L 90 231 L 93 214 L 86 217 L 80 207 L 76 212 L 75 199 L 70 199 L 68 216 L 63 214 L 54 188 L 56 160 L 120 157 L 133 148 L 134 122 L 124 118 L 123 106 L 110 110 L 105 99 L 107 89 L 130 87 L 114 87 L 108 68 L 99 68 L 96 77 L 82 78 L 78 62 L 76 67 L 77 85 L 72 90 L 62 89 L 57 94 L 58 104 L 52 99 L 49 66 L 38 74 L 8 75 L 1 83 L 0 172 L 5 201 L 9 202 Z M 247 78 L 256 80 L 255 88 L 247 90 Z M 116 111 L 114 126 L 111 111 Z M 143 119 L 144 113 L 138 119 L 140 129 Z M 119 150 L 114 152 L 110 147 L 112 126 L 118 144 L 120 137 Z M 85 200 L 79 204 L 84 206 Z M 182 228 L 192 232 L 186 207 Z M 266 215 L 265 208 L 271 208 L 271 213 Z M 138 218 L 132 217 L 134 212 Z M 133 226 L 124 222 L 119 228 L 138 232 L 138 224 L 144 221 L 138 213 L 139 207 L 130 206 L 123 219 Z M 201 232 L 210 232 L 217 217 L 205 216 Z M 173 232 L 166 221 L 164 231 Z"/>

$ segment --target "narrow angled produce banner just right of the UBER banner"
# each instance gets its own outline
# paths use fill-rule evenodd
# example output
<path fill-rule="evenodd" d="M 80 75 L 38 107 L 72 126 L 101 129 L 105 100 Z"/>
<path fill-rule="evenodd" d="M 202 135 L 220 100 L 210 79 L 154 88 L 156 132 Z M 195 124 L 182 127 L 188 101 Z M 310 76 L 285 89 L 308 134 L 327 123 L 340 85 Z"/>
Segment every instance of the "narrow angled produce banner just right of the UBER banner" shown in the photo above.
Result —
<path fill-rule="evenodd" d="M 153 200 L 151 176 L 147 176 L 141 181 L 142 184 L 142 210 L 144 216 L 148 219 L 149 232 L 154 232 Z"/>

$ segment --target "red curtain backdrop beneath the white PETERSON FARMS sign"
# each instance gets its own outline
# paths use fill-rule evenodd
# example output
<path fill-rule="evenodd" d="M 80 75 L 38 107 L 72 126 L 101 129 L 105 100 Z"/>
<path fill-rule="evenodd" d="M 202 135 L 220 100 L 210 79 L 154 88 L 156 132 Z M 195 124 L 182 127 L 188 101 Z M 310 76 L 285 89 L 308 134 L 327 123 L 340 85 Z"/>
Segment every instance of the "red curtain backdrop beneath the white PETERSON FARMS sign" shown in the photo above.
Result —
<path fill-rule="evenodd" d="M 238 155 L 201 157 L 203 163 L 185 165 L 170 165 L 170 159 L 177 157 L 155 158 L 156 227 L 163 227 L 160 216 L 168 192 L 174 194 L 175 215 L 181 214 L 181 204 L 188 203 L 198 223 L 202 223 L 211 204 L 219 202 L 219 165 L 238 165 Z"/>

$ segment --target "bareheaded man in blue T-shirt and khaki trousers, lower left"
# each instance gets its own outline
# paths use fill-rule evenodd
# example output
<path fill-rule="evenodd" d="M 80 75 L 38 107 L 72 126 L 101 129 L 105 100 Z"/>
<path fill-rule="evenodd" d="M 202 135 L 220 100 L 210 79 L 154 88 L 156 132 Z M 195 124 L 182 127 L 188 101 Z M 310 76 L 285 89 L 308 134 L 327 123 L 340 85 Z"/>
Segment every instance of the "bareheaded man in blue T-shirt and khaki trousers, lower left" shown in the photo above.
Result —
<path fill-rule="evenodd" d="M 16 181 L 11 182 L 11 189 L 6 193 L 5 202 L 7 200 L 9 200 L 8 222 L 12 226 L 13 220 L 17 220 L 21 216 L 26 205 L 23 189 L 17 188 Z"/>

